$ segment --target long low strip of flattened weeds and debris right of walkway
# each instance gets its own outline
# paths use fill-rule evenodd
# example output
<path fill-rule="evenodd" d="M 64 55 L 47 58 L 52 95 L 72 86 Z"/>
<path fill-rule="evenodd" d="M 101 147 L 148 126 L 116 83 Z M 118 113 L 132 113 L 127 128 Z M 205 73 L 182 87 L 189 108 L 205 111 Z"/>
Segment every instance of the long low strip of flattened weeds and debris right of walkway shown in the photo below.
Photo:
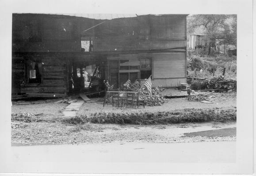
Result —
<path fill-rule="evenodd" d="M 236 120 L 236 109 L 195 109 L 154 112 L 154 113 L 95 113 L 88 117 L 80 116 L 91 123 L 114 124 L 172 124 L 181 122 L 206 122 Z"/>

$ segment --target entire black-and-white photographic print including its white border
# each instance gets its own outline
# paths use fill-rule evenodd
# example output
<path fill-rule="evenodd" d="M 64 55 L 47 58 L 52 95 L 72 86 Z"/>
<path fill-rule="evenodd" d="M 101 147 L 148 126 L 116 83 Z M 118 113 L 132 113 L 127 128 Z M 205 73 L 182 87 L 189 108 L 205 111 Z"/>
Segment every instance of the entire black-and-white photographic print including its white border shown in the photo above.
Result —
<path fill-rule="evenodd" d="M 241 12 L 57 8 L 8 12 L 11 154 L 0 172 L 252 174 L 252 35 Z"/>

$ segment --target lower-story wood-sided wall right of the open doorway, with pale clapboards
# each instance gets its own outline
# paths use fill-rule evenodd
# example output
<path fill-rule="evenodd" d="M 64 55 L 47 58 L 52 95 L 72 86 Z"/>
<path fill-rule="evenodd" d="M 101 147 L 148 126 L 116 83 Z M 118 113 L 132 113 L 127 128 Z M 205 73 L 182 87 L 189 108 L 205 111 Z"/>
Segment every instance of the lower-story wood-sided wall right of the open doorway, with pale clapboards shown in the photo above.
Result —
<path fill-rule="evenodd" d="M 130 64 L 135 63 L 134 61 L 139 62 L 140 58 L 152 59 L 153 87 L 156 87 L 157 85 L 162 85 L 163 87 L 176 87 L 180 85 L 180 83 L 186 83 L 186 53 L 183 52 L 109 56 L 107 57 L 107 60 L 109 65 L 108 79 L 110 80 L 110 84 L 119 85 L 124 81 L 124 77 L 122 77 L 122 80 L 119 80 L 120 74 L 123 74 L 125 70 L 118 70 L 118 61 L 130 60 L 130 62 L 126 62 L 127 64 Z"/>

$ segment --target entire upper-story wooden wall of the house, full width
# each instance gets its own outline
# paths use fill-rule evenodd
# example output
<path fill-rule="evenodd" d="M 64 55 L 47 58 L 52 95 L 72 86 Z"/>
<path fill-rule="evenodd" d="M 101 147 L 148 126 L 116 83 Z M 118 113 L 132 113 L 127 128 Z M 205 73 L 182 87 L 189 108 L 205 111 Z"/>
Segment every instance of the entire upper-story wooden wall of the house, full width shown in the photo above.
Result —
<path fill-rule="evenodd" d="M 81 40 L 92 40 L 93 51 L 186 47 L 186 15 L 96 20 L 66 15 L 13 14 L 12 24 L 13 51 L 80 51 Z M 96 27 L 89 29 L 92 26 Z"/>

